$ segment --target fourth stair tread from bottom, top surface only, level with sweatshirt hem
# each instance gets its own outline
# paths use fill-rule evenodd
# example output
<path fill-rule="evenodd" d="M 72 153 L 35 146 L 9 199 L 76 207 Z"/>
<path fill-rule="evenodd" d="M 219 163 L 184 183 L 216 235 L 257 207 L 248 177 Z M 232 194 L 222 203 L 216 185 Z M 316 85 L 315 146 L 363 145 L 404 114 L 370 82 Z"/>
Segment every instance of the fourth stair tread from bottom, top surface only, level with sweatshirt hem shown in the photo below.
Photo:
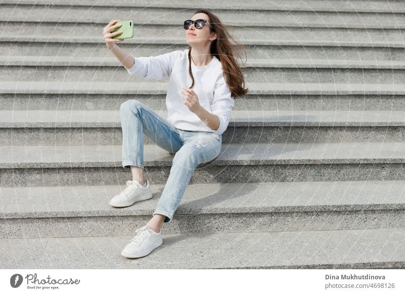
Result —
<path fill-rule="evenodd" d="M 167 111 L 156 111 L 167 118 Z M 403 126 L 403 111 L 234 110 L 230 126 Z M 0 127 L 121 127 L 120 110 L 0 110 Z"/>

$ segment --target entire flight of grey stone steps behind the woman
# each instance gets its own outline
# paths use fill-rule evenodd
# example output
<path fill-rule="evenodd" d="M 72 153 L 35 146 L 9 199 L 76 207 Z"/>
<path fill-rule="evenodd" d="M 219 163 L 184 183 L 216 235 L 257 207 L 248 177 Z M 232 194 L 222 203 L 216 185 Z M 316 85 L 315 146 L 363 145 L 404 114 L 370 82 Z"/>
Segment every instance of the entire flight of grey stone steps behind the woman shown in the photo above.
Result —
<path fill-rule="evenodd" d="M 125 52 L 184 50 L 195 7 L 0 4 L 0 264 L 404 268 L 405 8 L 391 0 L 204 2 L 246 46 L 249 95 L 235 100 L 220 155 L 195 169 L 163 246 L 120 256 L 173 161 L 145 136 L 153 198 L 108 205 L 131 178 L 120 105 L 136 99 L 166 117 L 167 79 L 129 76 L 101 32 L 119 15 L 136 28 Z"/>

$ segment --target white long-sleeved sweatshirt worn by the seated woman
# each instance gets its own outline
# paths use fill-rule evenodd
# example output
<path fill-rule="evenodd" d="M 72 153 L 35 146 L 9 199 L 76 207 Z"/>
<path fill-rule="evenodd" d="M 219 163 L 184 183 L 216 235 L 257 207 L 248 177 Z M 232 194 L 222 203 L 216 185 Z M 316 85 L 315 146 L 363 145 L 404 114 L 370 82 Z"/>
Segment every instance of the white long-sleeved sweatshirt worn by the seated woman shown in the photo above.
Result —
<path fill-rule="evenodd" d="M 134 57 L 134 59 L 133 67 L 127 69 L 130 75 L 144 77 L 147 80 L 169 77 L 166 95 L 167 120 L 176 128 L 214 132 L 218 135 L 226 130 L 234 100 L 225 82 L 221 62 L 215 56 L 206 66 L 196 66 L 191 60 L 191 70 L 194 76 L 192 90 L 197 94 L 199 104 L 208 112 L 218 116 L 220 121 L 218 130 L 209 128 L 182 102 L 182 88 L 189 87 L 192 82 L 188 73 L 188 49 L 158 56 Z"/>

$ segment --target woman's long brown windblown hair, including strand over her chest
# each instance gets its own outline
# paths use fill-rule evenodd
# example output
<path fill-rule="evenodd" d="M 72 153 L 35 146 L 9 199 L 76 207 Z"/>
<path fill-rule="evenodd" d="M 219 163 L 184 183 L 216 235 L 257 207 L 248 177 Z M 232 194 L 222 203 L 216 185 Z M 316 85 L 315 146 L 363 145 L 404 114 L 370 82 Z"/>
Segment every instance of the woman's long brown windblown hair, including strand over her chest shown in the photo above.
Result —
<path fill-rule="evenodd" d="M 240 97 L 242 95 L 246 95 L 248 93 L 248 89 L 245 89 L 245 79 L 242 75 L 242 72 L 239 68 L 239 65 L 234 57 L 234 55 L 238 55 L 240 58 L 239 53 L 233 47 L 229 39 L 235 41 L 235 43 L 240 46 L 246 55 L 245 46 L 241 45 L 238 41 L 230 36 L 228 33 L 226 26 L 221 23 L 219 18 L 211 13 L 206 9 L 197 9 L 194 11 L 194 14 L 197 13 L 205 13 L 210 18 L 209 23 L 211 24 L 212 28 L 210 27 L 210 32 L 215 32 L 217 34 L 217 38 L 212 41 L 211 43 L 211 55 L 218 58 L 218 60 L 222 64 L 222 70 L 224 73 L 224 78 L 226 83 L 231 90 L 232 97 Z M 190 73 L 192 84 L 190 88 L 194 86 L 194 76 L 191 72 L 191 46 L 188 46 L 188 72 Z"/>

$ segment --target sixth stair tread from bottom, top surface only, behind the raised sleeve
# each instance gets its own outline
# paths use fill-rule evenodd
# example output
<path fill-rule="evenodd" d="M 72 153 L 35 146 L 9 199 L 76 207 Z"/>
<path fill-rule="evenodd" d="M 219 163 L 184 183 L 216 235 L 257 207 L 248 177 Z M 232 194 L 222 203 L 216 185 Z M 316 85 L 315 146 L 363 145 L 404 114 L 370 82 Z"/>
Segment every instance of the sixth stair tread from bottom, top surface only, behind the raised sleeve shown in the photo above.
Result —
<path fill-rule="evenodd" d="M 340 59 L 247 59 L 241 67 L 288 67 L 288 68 L 347 68 L 351 69 L 403 69 L 405 61 L 395 60 L 340 60 Z M 121 66 L 116 58 L 76 56 L 0 56 L 0 65 L 8 66 Z"/>

